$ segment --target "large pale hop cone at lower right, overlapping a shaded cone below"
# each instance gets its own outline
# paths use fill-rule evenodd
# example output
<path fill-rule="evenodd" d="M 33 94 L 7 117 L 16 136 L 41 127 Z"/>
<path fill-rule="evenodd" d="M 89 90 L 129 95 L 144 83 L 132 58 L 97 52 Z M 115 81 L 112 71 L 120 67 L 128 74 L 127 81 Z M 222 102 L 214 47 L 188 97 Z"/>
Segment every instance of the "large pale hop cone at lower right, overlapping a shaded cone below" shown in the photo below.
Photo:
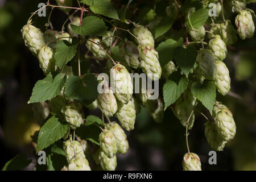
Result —
<path fill-rule="evenodd" d="M 236 135 L 237 127 L 233 119 L 233 114 L 228 107 L 221 104 L 221 102 L 215 102 L 213 118 L 220 137 L 226 141 L 233 139 Z"/>

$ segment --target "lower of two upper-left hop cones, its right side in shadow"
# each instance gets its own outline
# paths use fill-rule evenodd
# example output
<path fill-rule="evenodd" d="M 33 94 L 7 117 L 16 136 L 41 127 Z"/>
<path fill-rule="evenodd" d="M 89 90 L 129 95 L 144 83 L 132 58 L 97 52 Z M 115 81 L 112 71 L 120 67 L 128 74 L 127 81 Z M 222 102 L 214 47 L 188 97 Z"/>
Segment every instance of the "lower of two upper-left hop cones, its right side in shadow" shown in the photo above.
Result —
<path fill-rule="evenodd" d="M 42 47 L 38 53 L 38 60 L 40 68 L 43 70 L 44 75 L 47 75 L 49 72 L 55 71 L 55 59 L 53 49 L 47 46 Z"/>

